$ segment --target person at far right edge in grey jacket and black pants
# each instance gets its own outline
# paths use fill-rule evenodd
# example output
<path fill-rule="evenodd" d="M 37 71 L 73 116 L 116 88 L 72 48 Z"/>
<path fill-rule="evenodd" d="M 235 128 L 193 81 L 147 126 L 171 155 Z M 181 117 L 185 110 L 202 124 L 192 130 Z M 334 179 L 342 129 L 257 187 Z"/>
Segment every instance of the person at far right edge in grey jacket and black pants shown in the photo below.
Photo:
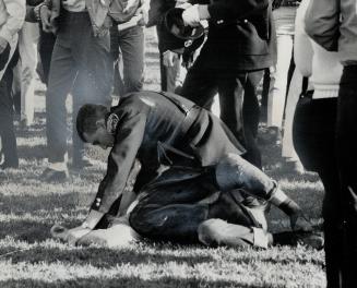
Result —
<path fill-rule="evenodd" d="M 308 35 L 343 65 L 336 111 L 335 155 L 340 190 L 334 213 L 342 239 L 342 287 L 357 285 L 357 2 L 311 1 L 305 17 Z M 329 71 L 330 72 L 330 71 Z M 341 243 L 341 242 L 340 242 Z M 337 244 L 337 243 L 335 243 Z"/>

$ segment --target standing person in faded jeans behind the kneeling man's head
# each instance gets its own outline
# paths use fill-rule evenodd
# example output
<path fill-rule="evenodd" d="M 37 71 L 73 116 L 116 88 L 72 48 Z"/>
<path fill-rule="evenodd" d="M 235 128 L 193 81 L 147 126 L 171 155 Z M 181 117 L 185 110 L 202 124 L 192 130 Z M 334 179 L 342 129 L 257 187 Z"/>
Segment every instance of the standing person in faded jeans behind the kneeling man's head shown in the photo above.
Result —
<path fill-rule="evenodd" d="M 67 109 L 66 99 L 74 82 L 76 107 L 93 101 L 111 105 L 112 60 L 110 57 L 109 7 L 99 1 L 46 0 L 40 9 L 45 32 L 57 34 L 51 56 L 46 94 L 46 131 L 48 168 L 41 175 L 47 181 L 66 180 Z M 75 106 L 75 105 L 74 105 Z M 75 115 L 75 108 L 73 108 Z M 75 117 L 74 117 L 75 118 Z M 83 149 L 73 136 L 73 166 L 82 161 Z M 83 145 L 82 145 L 83 146 Z"/>

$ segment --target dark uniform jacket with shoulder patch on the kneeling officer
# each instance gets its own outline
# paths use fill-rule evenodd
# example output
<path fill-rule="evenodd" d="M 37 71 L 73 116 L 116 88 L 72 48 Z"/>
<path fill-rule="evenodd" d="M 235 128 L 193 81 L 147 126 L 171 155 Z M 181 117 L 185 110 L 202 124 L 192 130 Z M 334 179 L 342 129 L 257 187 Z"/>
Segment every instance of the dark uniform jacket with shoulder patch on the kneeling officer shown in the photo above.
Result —
<path fill-rule="evenodd" d="M 178 95 L 166 95 L 130 94 L 108 115 L 116 141 L 92 205 L 96 214 L 108 213 L 121 196 L 135 158 L 142 165 L 134 185 L 140 192 L 162 165 L 211 166 L 228 153 L 245 152 L 218 118 Z"/>

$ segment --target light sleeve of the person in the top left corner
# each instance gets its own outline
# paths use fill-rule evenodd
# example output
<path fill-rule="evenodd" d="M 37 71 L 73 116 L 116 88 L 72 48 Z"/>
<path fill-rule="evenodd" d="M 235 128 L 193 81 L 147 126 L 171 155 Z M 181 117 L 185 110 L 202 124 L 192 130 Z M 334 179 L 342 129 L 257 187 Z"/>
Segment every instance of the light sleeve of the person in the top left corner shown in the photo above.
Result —
<path fill-rule="evenodd" d="M 24 23 L 26 14 L 26 2 L 25 0 L 3 0 L 3 3 L 7 9 L 8 20 L 0 27 L 0 37 L 10 43 Z"/>

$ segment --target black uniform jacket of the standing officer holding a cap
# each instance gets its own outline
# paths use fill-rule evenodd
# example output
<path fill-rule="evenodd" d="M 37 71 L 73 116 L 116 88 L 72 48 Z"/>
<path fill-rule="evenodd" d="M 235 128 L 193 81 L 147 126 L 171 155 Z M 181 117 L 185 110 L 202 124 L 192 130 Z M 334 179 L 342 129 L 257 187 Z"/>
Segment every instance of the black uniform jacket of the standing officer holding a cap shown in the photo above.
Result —
<path fill-rule="evenodd" d="M 211 0 L 207 41 L 201 55 L 214 68 L 257 70 L 273 65 L 276 35 L 269 0 Z"/>

